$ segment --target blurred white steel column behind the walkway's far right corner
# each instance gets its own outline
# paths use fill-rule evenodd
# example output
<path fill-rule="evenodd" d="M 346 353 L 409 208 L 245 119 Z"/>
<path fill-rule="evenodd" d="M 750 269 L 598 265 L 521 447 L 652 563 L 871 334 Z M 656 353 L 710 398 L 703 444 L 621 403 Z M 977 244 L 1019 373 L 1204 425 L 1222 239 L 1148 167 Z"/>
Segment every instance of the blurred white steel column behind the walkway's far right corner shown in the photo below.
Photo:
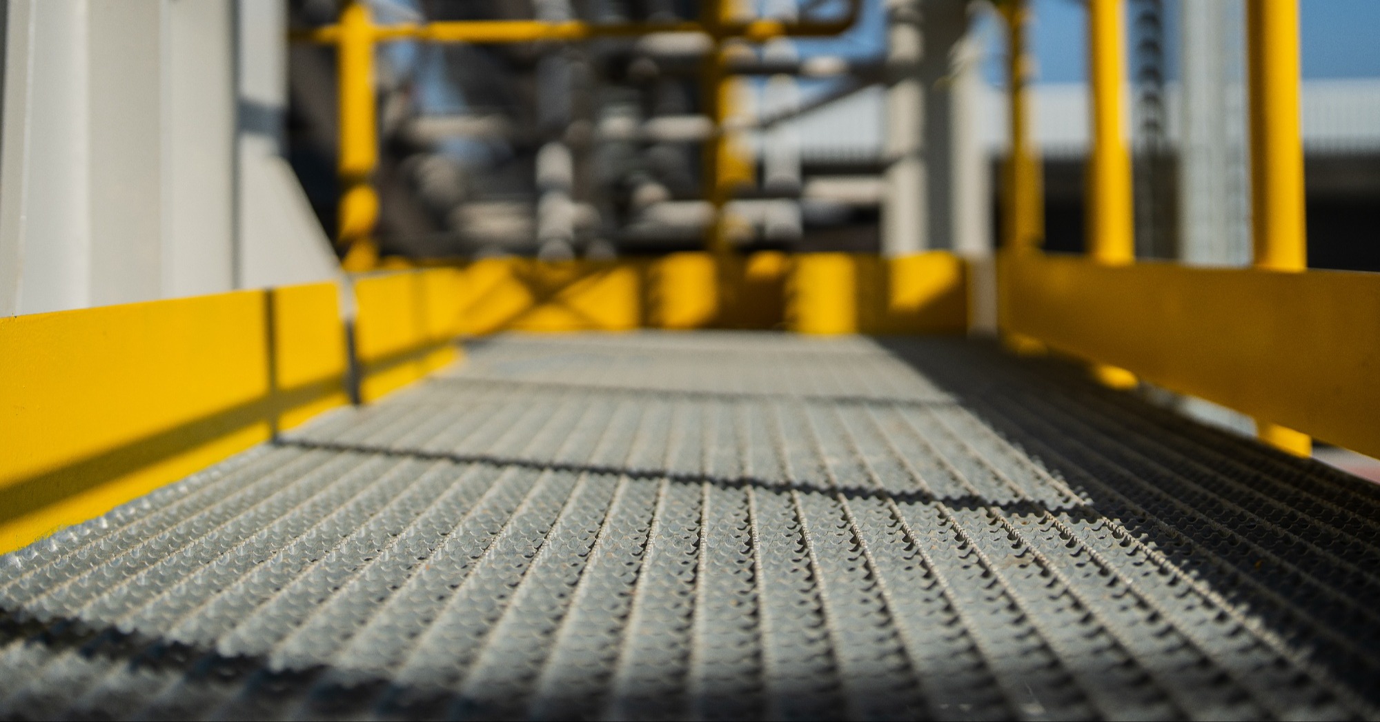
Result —
<path fill-rule="evenodd" d="M 882 248 L 987 254 L 987 163 L 966 0 L 887 3 Z"/>

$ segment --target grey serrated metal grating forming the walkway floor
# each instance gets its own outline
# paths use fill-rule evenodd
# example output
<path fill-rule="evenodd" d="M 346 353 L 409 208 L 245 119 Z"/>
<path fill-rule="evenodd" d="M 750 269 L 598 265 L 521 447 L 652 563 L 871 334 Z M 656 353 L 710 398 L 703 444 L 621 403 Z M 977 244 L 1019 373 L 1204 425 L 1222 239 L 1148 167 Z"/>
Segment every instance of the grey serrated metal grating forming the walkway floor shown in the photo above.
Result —
<path fill-rule="evenodd" d="M 495 338 L 0 559 L 0 716 L 1376 718 L 1377 521 L 980 343 Z"/>

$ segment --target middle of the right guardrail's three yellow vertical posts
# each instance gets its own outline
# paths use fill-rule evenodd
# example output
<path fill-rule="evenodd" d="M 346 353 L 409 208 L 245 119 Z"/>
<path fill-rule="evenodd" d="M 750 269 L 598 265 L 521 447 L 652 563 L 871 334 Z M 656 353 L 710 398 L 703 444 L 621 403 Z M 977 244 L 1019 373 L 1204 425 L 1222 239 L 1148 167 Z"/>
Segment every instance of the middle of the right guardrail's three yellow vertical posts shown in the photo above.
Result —
<path fill-rule="evenodd" d="M 1108 265 L 1136 258 L 1132 223 L 1130 150 L 1122 135 L 1126 120 L 1122 85 L 1125 32 L 1121 0 L 1089 0 L 1089 80 L 1093 147 L 1087 164 L 1087 255 Z"/>

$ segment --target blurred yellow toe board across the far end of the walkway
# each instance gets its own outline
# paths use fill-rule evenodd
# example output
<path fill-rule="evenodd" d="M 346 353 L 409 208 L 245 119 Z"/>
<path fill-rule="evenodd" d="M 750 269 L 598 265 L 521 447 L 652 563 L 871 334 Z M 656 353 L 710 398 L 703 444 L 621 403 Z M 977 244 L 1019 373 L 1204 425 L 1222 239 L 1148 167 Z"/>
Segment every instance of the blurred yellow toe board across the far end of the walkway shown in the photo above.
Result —
<path fill-rule="evenodd" d="M 451 274 L 457 329 L 570 332 L 638 328 L 799 333 L 963 333 L 966 263 L 947 252 L 669 254 L 545 263 L 491 258 Z"/>

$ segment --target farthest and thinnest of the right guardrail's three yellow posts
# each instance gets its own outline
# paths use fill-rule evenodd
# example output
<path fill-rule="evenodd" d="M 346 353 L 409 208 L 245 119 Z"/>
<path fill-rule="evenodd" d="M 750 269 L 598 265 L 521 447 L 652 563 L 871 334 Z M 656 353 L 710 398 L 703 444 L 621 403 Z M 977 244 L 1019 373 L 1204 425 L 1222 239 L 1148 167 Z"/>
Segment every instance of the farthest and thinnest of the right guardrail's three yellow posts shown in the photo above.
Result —
<path fill-rule="evenodd" d="M 1012 249 L 1039 248 L 1045 240 L 1043 179 L 1039 157 L 1031 143 L 1028 116 L 1028 84 L 1032 59 L 1025 47 L 1025 25 L 1029 21 L 1027 0 L 1010 0 L 1000 6 L 1010 37 L 1007 56 L 1007 110 L 1010 157 L 1002 194 L 1002 236 Z"/>

